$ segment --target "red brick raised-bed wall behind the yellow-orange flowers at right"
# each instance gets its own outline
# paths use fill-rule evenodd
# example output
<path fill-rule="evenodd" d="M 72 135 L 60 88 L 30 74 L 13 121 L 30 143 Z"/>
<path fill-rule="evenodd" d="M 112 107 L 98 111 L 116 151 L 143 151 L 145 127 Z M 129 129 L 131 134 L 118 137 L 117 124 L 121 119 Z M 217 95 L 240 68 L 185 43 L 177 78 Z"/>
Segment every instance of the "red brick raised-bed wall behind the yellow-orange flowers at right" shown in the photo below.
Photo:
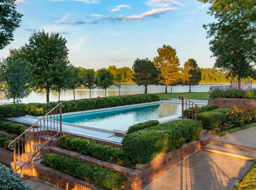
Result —
<path fill-rule="evenodd" d="M 256 99 L 242 99 L 242 98 L 211 98 L 208 100 L 209 105 L 217 104 L 219 108 L 232 108 L 238 106 L 239 108 L 246 108 L 248 105 L 256 104 Z"/>

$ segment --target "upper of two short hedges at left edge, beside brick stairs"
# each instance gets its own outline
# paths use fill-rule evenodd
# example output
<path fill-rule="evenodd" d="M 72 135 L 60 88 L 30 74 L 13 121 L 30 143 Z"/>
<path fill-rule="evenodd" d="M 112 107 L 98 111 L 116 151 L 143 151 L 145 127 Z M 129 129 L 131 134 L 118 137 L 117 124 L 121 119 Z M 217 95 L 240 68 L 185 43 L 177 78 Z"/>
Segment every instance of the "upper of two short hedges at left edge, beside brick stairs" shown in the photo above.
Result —
<path fill-rule="evenodd" d="M 0 130 L 20 135 L 22 134 L 26 129 L 28 129 L 28 126 L 16 124 L 12 122 L 6 122 L 6 121 L 0 121 Z"/>

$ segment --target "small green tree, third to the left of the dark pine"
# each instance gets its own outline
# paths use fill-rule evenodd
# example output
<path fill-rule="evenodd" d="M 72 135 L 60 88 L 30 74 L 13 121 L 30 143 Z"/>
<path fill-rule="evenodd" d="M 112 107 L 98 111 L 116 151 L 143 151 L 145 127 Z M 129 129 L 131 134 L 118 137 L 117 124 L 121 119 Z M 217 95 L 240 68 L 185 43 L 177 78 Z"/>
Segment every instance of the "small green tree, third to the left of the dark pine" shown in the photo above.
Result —
<path fill-rule="evenodd" d="M 96 88 L 95 84 L 95 71 L 94 69 L 83 69 L 82 71 L 82 80 L 83 86 L 90 90 L 90 98 L 91 98 L 91 89 Z"/>

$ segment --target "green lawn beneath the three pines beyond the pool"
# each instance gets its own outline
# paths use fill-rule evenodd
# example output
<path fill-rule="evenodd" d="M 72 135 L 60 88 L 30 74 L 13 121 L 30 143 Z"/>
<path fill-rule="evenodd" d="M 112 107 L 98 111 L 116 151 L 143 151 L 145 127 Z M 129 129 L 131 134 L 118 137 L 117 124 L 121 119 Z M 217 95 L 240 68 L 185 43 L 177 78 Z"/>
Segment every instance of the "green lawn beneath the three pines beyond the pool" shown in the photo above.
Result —
<path fill-rule="evenodd" d="M 156 93 L 160 99 L 179 98 L 184 96 L 188 99 L 208 100 L 208 92 L 177 92 L 177 93 Z"/>

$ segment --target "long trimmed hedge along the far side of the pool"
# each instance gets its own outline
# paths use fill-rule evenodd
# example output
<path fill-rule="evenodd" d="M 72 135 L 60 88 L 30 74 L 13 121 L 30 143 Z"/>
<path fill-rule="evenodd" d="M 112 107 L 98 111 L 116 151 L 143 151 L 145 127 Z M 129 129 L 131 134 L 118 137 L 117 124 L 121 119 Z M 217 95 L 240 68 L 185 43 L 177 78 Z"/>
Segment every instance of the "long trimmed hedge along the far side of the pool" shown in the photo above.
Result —
<path fill-rule="evenodd" d="M 155 94 L 144 94 L 62 101 L 65 103 L 65 107 L 62 108 L 62 113 L 146 103 L 159 100 L 159 96 Z M 59 102 L 2 105 L 0 106 L 0 119 L 25 115 L 42 116 L 47 114 L 58 103 Z"/>

